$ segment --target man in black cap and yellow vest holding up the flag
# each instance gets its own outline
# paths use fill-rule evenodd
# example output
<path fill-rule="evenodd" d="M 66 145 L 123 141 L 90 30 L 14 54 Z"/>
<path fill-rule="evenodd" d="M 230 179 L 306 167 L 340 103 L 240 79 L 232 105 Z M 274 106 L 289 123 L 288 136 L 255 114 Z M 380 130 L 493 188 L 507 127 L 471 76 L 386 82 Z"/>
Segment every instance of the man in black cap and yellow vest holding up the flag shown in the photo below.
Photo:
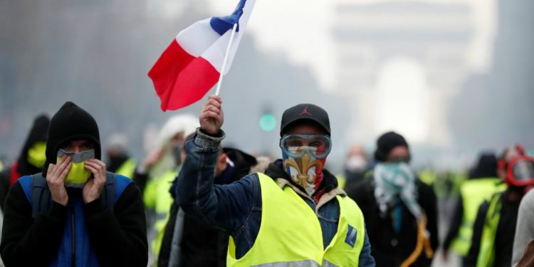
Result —
<path fill-rule="evenodd" d="M 186 143 L 176 200 L 189 216 L 231 236 L 227 266 L 375 266 L 360 208 L 324 168 L 332 147 L 325 110 L 288 108 L 282 159 L 265 174 L 214 185 L 223 121 L 221 98 L 211 95 Z"/>

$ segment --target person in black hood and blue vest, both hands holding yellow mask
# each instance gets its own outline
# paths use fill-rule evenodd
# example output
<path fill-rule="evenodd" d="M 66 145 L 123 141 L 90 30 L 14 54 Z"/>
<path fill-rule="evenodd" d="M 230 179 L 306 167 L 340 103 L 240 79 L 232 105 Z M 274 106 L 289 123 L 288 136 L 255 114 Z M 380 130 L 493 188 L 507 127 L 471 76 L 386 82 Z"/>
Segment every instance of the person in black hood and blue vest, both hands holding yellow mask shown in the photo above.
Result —
<path fill-rule="evenodd" d="M 72 102 L 52 117 L 43 172 L 6 197 L 6 266 L 147 266 L 145 211 L 127 177 L 106 172 L 95 119 Z"/>

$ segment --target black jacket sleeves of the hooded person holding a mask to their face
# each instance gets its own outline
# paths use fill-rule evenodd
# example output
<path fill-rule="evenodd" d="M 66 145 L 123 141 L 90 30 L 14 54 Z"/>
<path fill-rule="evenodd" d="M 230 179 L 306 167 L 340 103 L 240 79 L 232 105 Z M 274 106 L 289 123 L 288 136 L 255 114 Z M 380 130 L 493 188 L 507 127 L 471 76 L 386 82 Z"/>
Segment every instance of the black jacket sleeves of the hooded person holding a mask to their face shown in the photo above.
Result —
<path fill-rule="evenodd" d="M 76 192 L 69 191 L 69 196 L 72 194 Z M 100 201 L 84 208 L 90 244 L 102 266 L 147 266 L 145 210 L 135 184 L 122 192 L 113 214 Z M 4 264 L 47 266 L 57 255 L 67 211 L 67 206 L 52 202 L 46 214 L 32 219 L 28 199 L 16 182 L 9 190 L 4 211 L 0 244 Z"/>

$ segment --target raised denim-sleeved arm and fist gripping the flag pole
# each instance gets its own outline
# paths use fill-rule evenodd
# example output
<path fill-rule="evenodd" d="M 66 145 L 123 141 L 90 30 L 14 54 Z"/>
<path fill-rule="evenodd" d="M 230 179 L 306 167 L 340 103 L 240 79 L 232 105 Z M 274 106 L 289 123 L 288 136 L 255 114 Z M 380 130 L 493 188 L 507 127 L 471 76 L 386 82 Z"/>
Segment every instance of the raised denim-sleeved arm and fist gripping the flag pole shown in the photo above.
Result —
<path fill-rule="evenodd" d="M 226 185 L 214 185 L 214 168 L 224 139 L 221 98 L 211 95 L 200 115 L 200 128 L 186 142 L 186 158 L 177 180 L 176 201 L 186 214 L 233 234 L 251 213 L 258 197 L 254 174 Z"/>

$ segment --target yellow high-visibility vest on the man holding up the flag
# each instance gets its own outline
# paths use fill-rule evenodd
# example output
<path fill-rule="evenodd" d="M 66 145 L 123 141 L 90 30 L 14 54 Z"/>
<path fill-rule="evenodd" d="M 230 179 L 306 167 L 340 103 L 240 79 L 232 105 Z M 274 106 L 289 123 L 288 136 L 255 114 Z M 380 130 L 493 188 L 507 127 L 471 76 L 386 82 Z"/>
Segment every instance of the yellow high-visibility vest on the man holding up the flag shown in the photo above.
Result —
<path fill-rule="evenodd" d="M 365 239 L 362 211 L 349 197 L 337 195 L 340 219 L 326 249 L 317 214 L 291 187 L 281 189 L 265 174 L 261 186 L 261 224 L 252 248 L 236 259 L 230 238 L 227 266 L 358 266 Z"/>

